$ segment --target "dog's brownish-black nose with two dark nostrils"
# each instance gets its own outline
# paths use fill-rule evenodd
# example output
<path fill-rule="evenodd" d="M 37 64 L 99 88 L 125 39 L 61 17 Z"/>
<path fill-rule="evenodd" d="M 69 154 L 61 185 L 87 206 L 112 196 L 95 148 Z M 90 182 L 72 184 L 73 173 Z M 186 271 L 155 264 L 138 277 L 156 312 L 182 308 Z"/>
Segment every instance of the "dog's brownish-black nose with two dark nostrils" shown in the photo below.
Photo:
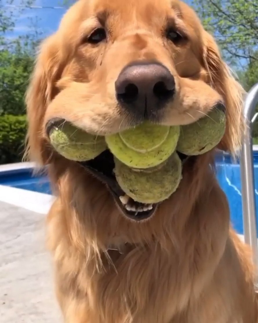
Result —
<path fill-rule="evenodd" d="M 115 82 L 119 103 L 139 117 L 155 117 L 175 93 L 175 79 L 157 63 L 134 64 L 124 68 Z"/>

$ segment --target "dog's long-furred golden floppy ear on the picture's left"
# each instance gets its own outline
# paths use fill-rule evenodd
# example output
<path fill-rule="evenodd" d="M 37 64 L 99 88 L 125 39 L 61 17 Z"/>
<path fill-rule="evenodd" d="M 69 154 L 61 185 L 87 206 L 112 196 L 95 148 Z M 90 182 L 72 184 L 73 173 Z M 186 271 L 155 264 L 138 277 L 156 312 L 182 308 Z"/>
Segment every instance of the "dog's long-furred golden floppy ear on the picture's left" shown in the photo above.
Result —
<path fill-rule="evenodd" d="M 28 130 L 26 156 L 41 165 L 48 162 L 50 151 L 42 135 L 46 107 L 57 95 L 55 83 L 60 77 L 60 52 L 57 36 L 47 38 L 41 45 L 26 93 Z"/>

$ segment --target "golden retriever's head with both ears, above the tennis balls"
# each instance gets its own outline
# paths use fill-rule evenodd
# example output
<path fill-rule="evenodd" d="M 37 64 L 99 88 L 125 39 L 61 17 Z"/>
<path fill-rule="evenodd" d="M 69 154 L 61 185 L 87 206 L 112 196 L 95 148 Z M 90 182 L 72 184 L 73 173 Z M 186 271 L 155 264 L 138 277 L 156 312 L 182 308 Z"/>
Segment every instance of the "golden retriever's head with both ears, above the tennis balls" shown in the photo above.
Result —
<path fill-rule="evenodd" d="M 213 38 L 181 1 L 79 0 L 41 47 L 27 94 L 30 154 L 54 162 L 47 132 L 60 119 L 106 135 L 143 120 L 188 124 L 221 104 L 220 148 L 234 152 L 241 94 Z"/>

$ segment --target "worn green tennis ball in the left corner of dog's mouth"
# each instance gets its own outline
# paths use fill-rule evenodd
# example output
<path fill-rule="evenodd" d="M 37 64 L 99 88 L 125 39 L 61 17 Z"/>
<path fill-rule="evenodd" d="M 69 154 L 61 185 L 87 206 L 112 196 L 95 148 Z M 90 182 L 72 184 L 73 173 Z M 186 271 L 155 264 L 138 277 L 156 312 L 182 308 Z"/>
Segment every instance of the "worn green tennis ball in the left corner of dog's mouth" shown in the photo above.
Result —
<path fill-rule="evenodd" d="M 73 161 L 93 159 L 107 149 L 104 137 L 91 135 L 69 122 L 54 127 L 49 139 L 60 155 Z"/>

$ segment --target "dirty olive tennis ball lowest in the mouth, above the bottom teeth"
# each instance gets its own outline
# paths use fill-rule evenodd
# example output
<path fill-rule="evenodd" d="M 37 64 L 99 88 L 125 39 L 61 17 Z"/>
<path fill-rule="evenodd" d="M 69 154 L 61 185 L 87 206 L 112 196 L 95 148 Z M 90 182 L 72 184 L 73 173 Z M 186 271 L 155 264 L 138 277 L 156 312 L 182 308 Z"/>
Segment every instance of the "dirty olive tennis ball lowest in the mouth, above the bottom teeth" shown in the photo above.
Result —
<path fill-rule="evenodd" d="M 134 201 L 159 203 L 174 193 L 182 178 L 182 163 L 175 152 L 153 172 L 133 170 L 115 160 L 116 179 L 121 189 Z"/>

